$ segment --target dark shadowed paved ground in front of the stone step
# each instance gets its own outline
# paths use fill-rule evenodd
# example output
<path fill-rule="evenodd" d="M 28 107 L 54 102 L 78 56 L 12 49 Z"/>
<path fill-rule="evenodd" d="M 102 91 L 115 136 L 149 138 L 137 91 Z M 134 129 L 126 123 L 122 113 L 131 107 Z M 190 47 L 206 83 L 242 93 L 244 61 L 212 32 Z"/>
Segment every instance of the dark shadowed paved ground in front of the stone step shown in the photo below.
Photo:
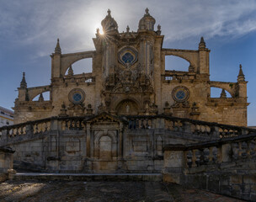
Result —
<path fill-rule="evenodd" d="M 241 201 L 199 189 L 183 189 L 159 182 L 6 181 L 0 183 L 0 201 L 152 202 Z"/>

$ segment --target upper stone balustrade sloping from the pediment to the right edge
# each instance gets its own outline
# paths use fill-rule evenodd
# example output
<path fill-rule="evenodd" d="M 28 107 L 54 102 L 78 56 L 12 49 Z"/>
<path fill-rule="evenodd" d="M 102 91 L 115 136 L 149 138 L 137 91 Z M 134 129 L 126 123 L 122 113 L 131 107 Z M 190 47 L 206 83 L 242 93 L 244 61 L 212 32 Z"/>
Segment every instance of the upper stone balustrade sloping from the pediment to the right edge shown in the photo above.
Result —
<path fill-rule="evenodd" d="M 125 119 L 128 120 L 128 128 L 131 130 L 162 128 L 175 132 L 191 133 L 195 136 L 212 136 L 216 139 L 248 135 L 256 132 L 255 129 L 242 126 L 222 125 L 168 115 L 125 116 Z"/>

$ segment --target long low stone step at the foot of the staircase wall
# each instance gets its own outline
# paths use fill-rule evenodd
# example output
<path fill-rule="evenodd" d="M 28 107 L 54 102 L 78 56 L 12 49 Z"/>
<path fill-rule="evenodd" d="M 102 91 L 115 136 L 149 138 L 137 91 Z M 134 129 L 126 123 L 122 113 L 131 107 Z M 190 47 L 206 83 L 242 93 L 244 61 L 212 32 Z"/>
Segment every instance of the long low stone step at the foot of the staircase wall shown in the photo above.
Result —
<path fill-rule="evenodd" d="M 14 180 L 147 181 L 160 182 L 162 173 L 16 173 Z"/>

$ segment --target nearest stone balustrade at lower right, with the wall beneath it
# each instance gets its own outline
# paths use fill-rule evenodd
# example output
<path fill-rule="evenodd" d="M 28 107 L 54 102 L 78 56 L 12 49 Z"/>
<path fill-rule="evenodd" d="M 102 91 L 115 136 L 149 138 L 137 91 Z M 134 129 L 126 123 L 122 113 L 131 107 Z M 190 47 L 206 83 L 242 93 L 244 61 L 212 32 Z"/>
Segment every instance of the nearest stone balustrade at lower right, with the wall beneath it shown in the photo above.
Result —
<path fill-rule="evenodd" d="M 189 145 L 167 145 L 163 151 L 164 181 L 255 201 L 255 132 Z"/>

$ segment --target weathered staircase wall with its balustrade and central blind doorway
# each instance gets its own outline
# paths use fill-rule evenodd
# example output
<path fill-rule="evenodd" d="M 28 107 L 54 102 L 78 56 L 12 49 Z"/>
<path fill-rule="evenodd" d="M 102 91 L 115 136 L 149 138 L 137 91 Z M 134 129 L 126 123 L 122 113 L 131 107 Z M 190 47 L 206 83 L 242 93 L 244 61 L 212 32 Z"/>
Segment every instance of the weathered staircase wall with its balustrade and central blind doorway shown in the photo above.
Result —
<path fill-rule="evenodd" d="M 159 173 L 163 147 L 255 130 L 164 115 L 118 117 L 102 113 L 52 117 L 5 126 L 0 146 L 12 146 L 15 167 L 75 173 Z M 165 155 L 168 151 L 165 152 Z"/>

